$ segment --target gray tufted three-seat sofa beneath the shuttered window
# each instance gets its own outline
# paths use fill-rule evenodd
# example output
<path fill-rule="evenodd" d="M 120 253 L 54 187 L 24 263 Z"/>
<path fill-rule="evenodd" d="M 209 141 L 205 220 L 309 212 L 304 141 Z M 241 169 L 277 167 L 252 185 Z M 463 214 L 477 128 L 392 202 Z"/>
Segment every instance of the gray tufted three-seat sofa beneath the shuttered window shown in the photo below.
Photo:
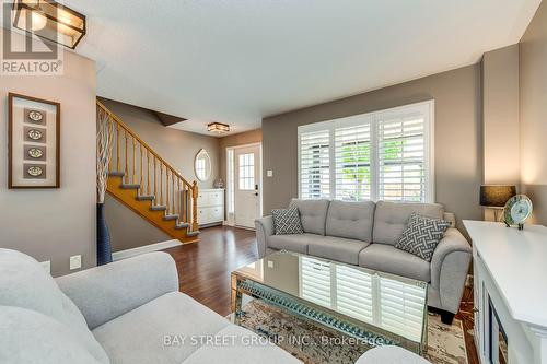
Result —
<path fill-rule="evenodd" d="M 293 199 L 290 207 L 298 207 L 304 234 L 275 235 L 272 216 L 257 219 L 260 257 L 284 249 L 428 282 L 428 305 L 441 313 L 443 322 L 452 322 L 472 259 L 469 243 L 450 227 L 431 262 L 394 246 L 412 212 L 454 226 L 454 215 L 441 204 Z"/>

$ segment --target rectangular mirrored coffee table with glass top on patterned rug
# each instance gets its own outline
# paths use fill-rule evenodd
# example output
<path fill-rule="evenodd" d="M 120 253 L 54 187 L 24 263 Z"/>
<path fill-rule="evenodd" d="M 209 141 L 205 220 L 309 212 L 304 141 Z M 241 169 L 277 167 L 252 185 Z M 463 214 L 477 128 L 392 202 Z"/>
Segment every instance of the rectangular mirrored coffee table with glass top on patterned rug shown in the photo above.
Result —
<path fill-rule="evenodd" d="M 232 272 L 232 317 L 242 296 L 372 345 L 427 348 L 428 284 L 361 267 L 278 251 Z"/>

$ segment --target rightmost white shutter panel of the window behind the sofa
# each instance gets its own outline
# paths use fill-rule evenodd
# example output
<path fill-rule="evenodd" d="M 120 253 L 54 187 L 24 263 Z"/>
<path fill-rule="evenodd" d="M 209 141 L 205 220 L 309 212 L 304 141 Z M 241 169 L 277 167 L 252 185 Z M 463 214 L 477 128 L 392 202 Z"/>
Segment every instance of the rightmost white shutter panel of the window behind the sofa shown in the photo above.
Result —
<path fill-rule="evenodd" d="M 427 201 L 426 118 L 377 120 L 379 200 Z"/>

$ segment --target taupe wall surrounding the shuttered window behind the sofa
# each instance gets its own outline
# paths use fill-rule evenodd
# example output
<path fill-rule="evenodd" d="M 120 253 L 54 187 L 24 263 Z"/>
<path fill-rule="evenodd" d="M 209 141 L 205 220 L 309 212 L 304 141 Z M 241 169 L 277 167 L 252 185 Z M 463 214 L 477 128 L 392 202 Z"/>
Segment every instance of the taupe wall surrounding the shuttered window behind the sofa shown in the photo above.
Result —
<path fill-rule="evenodd" d="M 298 196 L 299 126 L 434 99 L 435 200 L 456 214 L 459 227 L 462 219 L 481 220 L 480 83 L 475 64 L 263 119 L 264 213 Z"/>

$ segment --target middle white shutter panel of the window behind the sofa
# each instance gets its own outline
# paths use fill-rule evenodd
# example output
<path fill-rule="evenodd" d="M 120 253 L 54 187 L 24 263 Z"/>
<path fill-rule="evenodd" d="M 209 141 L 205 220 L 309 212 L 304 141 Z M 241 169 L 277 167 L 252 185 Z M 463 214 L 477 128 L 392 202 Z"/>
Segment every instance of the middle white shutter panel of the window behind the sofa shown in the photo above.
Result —
<path fill-rule="evenodd" d="M 371 124 L 335 129 L 336 199 L 370 200 Z"/>

